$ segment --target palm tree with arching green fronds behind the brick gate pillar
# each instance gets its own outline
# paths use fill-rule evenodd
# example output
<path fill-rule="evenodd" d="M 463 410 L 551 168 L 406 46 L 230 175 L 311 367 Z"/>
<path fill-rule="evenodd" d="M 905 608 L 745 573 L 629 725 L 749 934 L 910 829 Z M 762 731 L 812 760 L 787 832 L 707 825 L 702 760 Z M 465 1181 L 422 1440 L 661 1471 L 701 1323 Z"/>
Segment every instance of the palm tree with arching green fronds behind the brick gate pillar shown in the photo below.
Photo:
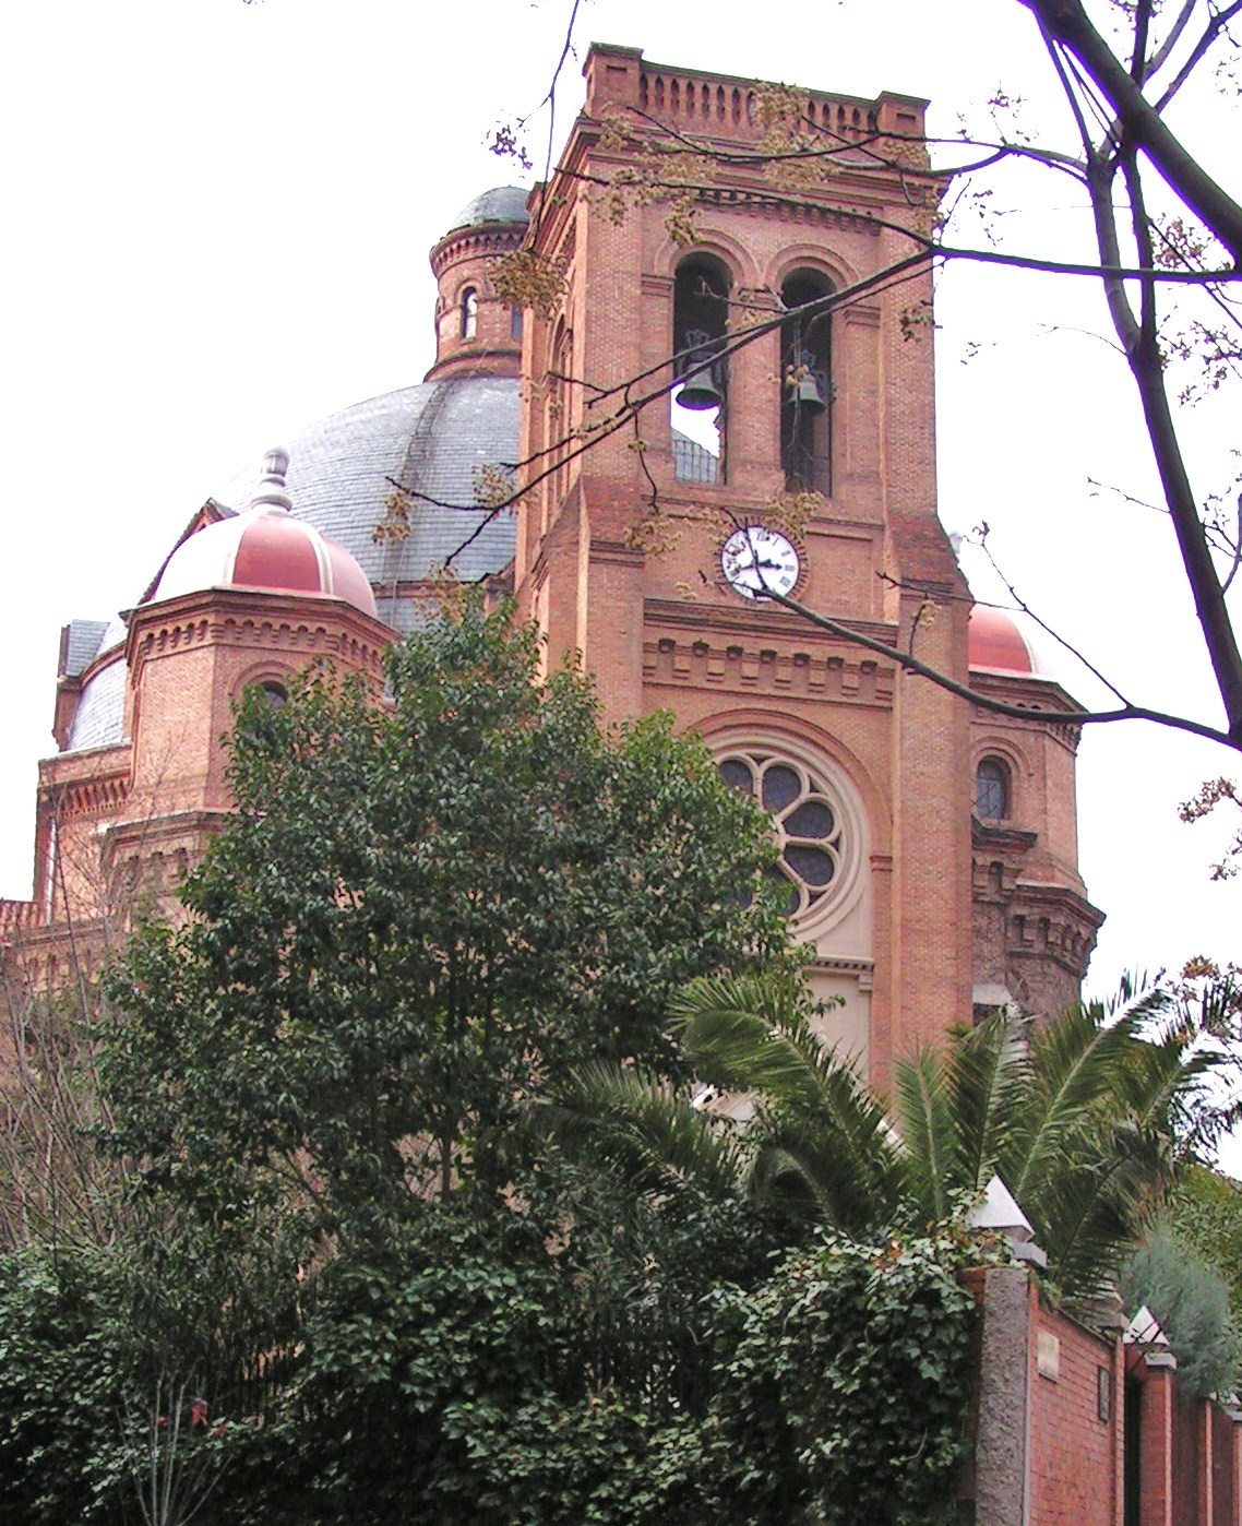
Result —
<path fill-rule="evenodd" d="M 598 1065 L 551 1105 L 571 1149 L 673 1202 L 749 1198 L 793 1236 L 944 1221 L 999 1175 L 1071 1299 L 1115 1274 L 1179 1152 L 1219 1112 L 1205 1082 L 1225 1056 L 1163 989 L 1126 987 L 1047 1025 L 999 1012 L 955 1030 L 897 1067 L 888 1106 L 822 1042 L 795 978 L 696 980 L 671 1018 L 696 1074 L 748 1096 L 752 1116 L 740 1125 Z"/>

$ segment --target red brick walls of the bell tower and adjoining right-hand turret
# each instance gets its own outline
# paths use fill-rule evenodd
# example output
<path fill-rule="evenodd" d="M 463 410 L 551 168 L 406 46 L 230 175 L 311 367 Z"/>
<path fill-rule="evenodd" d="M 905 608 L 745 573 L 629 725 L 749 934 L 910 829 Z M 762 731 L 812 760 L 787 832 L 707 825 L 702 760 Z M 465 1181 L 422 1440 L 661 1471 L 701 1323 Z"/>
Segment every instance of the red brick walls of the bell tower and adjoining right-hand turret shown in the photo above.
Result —
<path fill-rule="evenodd" d="M 674 238 L 665 201 L 603 215 L 600 185 L 641 154 L 653 119 L 725 153 L 754 150 L 755 85 L 626 49 L 592 50 L 586 76 L 586 113 L 533 241 L 563 264 L 565 298 L 533 314 L 525 337 L 523 372 L 536 386 L 522 455 L 534 485 L 519 520 L 520 607 L 543 626 L 554 659 L 584 656 L 610 716 L 668 708 L 717 748 L 749 737 L 795 757 L 850 813 L 856 893 L 803 931 L 816 986 L 842 1000 L 833 1036 L 883 1085 L 894 1054 L 969 1016 L 980 983 L 1042 1012 L 1077 993 L 1099 925 L 1076 867 L 1077 737 L 1034 711 L 1031 722 L 973 732 L 969 708 L 943 690 L 725 584 L 722 540 L 763 523 L 787 487 L 778 330 L 728 357 L 717 479 L 679 473 L 662 389 L 687 262 L 720 272 L 740 314 L 731 324 L 777 313 L 792 273 L 854 291 L 832 317 L 832 479 L 793 537 L 795 595 L 967 679 L 969 594 L 935 516 L 931 327 L 909 337 L 931 287 L 926 275 L 897 290 L 870 285 L 911 253 L 900 232 L 919 215 L 908 177 L 844 156 L 829 183 L 774 195 L 764 171 L 699 165 L 693 238 Z M 917 136 L 922 111 L 897 96 L 806 101 L 836 142 L 870 125 Z M 618 124 L 633 137 L 618 136 Z M 633 377 L 661 395 L 635 427 L 606 433 Z M 575 455 L 580 438 L 595 443 Z M 636 534 L 644 516 L 661 537 L 647 554 Z M 1071 708 L 1030 676 L 990 682 L 1045 713 Z M 1025 836 L 1016 852 L 984 841 L 972 876 L 973 766 L 981 748 L 1001 745 L 1022 780 L 1015 826 Z"/>

